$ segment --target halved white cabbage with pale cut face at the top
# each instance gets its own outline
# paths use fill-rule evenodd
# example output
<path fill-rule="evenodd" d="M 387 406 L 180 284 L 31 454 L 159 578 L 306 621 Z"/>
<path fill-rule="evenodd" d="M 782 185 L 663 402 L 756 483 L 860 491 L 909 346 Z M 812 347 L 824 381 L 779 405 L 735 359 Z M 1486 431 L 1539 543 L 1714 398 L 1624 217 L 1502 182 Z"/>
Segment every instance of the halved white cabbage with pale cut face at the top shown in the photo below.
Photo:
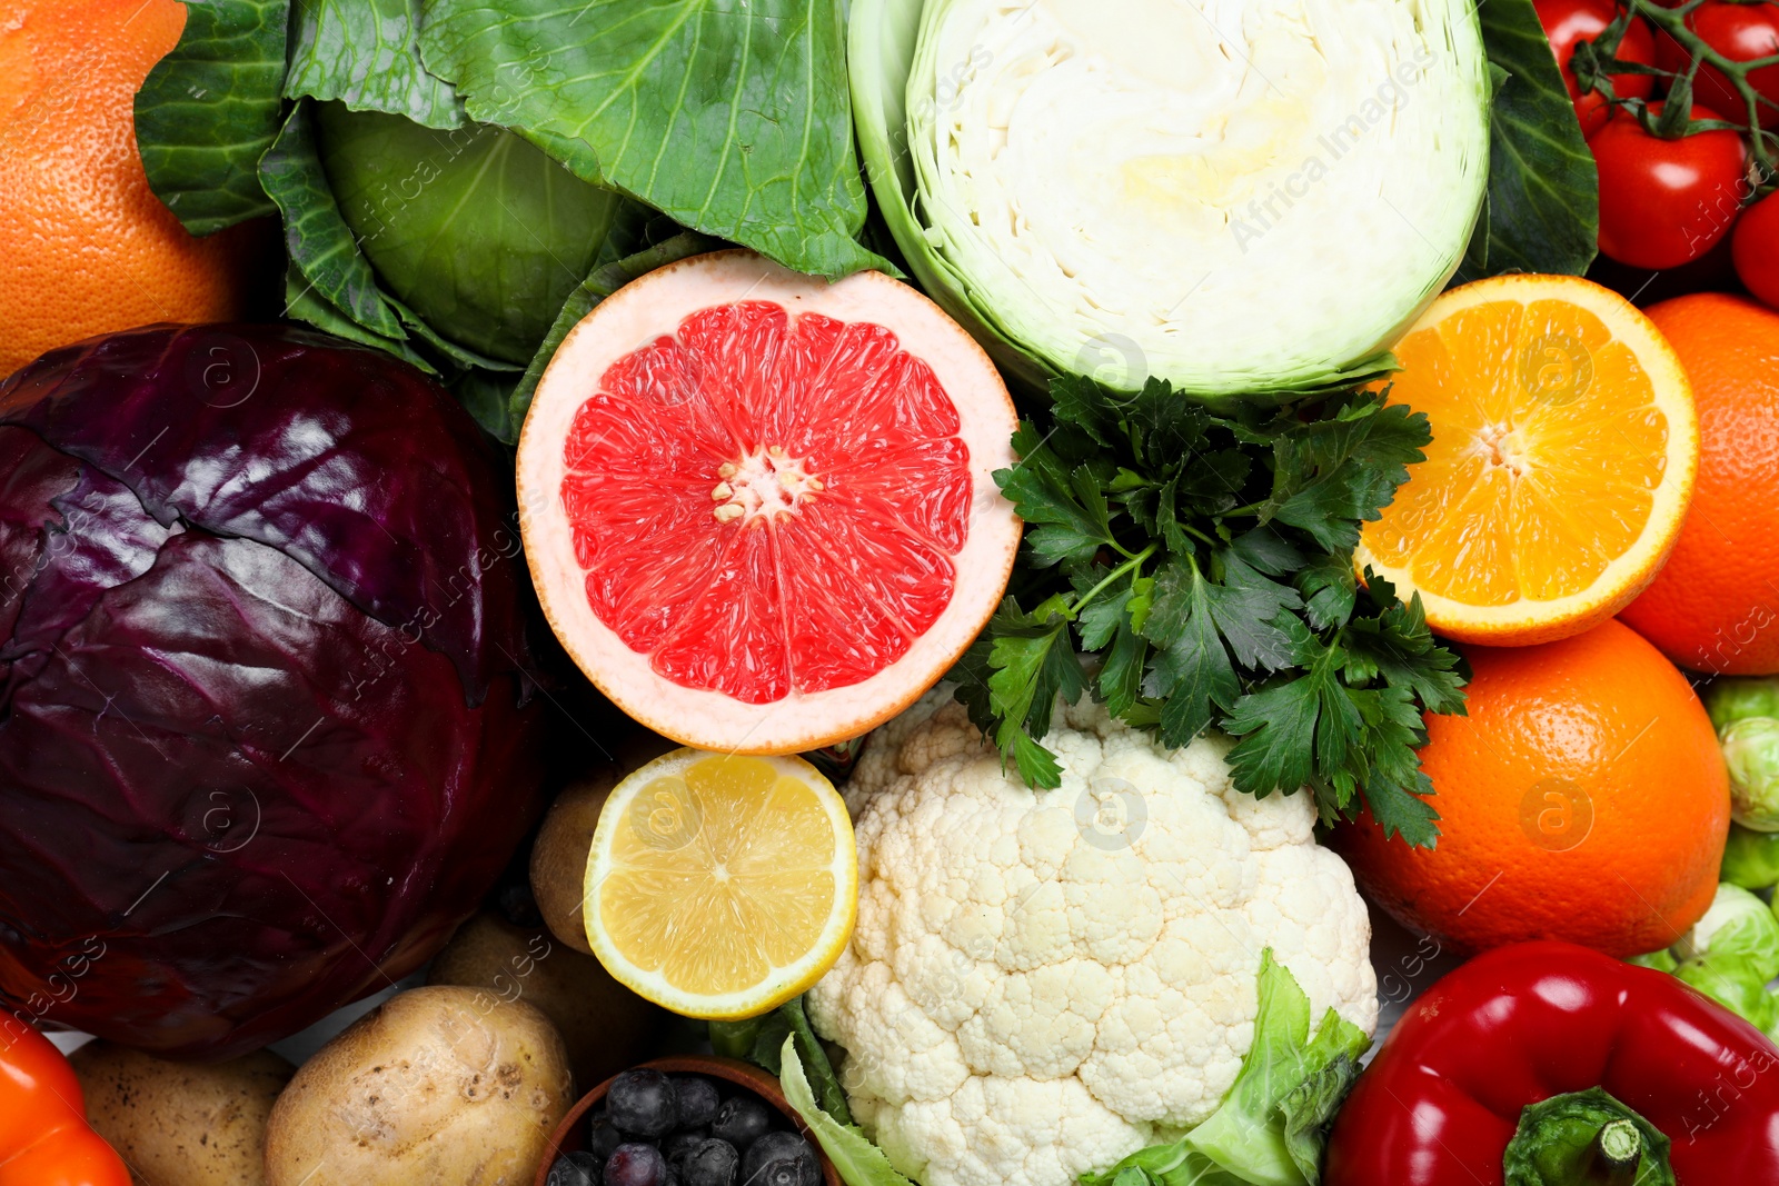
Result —
<path fill-rule="evenodd" d="M 897 242 L 1026 382 L 1375 375 L 1487 181 L 1471 0 L 854 0 L 850 41 Z"/>

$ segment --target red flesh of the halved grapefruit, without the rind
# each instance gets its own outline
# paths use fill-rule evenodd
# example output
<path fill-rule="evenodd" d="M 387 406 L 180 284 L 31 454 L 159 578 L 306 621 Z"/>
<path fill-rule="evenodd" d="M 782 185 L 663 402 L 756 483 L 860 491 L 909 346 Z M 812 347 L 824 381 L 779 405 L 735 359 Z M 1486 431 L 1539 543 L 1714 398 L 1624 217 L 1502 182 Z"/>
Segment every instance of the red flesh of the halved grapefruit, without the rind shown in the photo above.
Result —
<path fill-rule="evenodd" d="M 701 309 L 575 414 L 560 494 L 587 603 L 680 686 L 769 704 L 861 683 L 950 605 L 957 430 L 882 325 Z"/>

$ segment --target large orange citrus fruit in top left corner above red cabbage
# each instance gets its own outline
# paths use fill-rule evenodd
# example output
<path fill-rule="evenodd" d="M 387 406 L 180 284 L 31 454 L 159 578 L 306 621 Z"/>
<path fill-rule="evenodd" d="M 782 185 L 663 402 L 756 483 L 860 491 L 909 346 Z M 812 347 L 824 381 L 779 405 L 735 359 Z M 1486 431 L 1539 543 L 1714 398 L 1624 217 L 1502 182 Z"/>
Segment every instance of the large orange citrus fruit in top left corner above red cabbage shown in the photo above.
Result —
<path fill-rule="evenodd" d="M 0 379 L 93 334 L 240 315 L 242 238 L 189 235 L 135 149 L 135 92 L 183 28 L 174 0 L 0 11 Z"/>

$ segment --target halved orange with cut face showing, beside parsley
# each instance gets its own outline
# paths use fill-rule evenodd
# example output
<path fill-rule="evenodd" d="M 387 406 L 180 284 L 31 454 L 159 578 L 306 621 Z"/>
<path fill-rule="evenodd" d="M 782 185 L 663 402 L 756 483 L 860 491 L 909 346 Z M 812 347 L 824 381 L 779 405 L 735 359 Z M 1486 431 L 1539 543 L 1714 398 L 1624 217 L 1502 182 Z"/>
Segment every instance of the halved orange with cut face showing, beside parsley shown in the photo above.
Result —
<path fill-rule="evenodd" d="M 1421 596 L 1448 638 L 1525 645 L 1631 601 L 1674 546 L 1699 468 L 1679 359 L 1647 317 L 1573 276 L 1453 288 L 1397 343 L 1389 402 L 1432 445 L 1354 564 Z"/>

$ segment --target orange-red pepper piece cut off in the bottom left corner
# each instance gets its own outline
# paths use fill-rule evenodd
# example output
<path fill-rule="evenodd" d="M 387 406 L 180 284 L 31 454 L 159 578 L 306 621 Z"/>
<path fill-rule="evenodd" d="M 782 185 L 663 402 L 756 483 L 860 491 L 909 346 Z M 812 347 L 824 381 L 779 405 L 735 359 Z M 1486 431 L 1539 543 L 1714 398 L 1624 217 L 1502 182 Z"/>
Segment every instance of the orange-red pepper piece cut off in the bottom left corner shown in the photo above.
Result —
<path fill-rule="evenodd" d="M 87 1127 L 73 1067 L 12 1017 L 0 1021 L 0 1186 L 130 1186 L 123 1158 Z"/>

